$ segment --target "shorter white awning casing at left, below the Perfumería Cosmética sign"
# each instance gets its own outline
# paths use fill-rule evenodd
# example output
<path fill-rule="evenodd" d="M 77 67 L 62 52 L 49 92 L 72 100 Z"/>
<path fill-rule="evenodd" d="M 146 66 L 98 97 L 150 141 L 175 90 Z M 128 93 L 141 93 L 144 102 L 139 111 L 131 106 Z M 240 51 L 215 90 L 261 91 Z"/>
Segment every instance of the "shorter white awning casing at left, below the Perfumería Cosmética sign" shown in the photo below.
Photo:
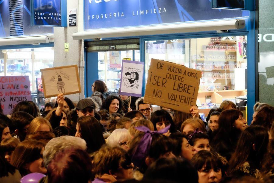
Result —
<path fill-rule="evenodd" d="M 0 46 L 49 43 L 53 41 L 52 37 L 53 35 L 2 38 Z"/>

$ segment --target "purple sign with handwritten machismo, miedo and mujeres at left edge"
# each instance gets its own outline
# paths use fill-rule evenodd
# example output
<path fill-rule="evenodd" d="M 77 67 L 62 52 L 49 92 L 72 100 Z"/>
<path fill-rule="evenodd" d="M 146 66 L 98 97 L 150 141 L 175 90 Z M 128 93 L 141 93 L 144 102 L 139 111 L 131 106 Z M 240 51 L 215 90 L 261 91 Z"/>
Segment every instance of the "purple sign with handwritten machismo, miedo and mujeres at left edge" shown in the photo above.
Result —
<path fill-rule="evenodd" d="M 9 114 L 18 102 L 31 100 L 29 76 L 0 76 L 0 88 L 4 114 Z"/>

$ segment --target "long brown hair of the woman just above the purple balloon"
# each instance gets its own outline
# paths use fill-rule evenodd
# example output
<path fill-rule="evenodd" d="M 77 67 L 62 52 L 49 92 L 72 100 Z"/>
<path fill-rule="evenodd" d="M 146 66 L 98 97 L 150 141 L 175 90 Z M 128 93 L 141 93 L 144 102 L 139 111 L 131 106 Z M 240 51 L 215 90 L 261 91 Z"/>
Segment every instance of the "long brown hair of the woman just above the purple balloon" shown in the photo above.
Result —
<path fill-rule="evenodd" d="M 24 168 L 27 163 L 38 160 L 44 150 L 45 144 L 37 140 L 24 140 L 15 148 L 10 164 L 16 167 L 22 175 L 28 172 Z"/>

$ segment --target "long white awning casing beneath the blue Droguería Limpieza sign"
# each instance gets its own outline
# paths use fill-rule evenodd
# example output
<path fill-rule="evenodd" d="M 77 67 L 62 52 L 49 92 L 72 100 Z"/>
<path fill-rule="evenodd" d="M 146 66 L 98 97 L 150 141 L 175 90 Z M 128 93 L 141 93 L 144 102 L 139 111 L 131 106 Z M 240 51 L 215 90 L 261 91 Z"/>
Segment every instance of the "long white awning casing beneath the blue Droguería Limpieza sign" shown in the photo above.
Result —
<path fill-rule="evenodd" d="M 95 29 L 83 32 L 74 32 L 74 40 L 116 38 L 127 36 L 144 36 L 157 34 L 176 34 L 184 32 L 201 32 L 214 30 L 243 29 L 245 20 L 216 20 L 205 22 L 176 23 L 143 27 L 122 27 L 114 29 Z"/>

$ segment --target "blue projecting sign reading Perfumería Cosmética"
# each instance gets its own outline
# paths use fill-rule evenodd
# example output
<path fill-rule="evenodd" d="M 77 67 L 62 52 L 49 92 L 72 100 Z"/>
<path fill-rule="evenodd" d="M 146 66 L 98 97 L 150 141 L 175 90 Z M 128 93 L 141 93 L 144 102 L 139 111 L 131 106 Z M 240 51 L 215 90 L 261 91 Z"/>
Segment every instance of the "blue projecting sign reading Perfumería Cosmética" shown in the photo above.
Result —
<path fill-rule="evenodd" d="M 66 0 L 31 0 L 31 22 L 34 26 L 67 27 Z"/>

